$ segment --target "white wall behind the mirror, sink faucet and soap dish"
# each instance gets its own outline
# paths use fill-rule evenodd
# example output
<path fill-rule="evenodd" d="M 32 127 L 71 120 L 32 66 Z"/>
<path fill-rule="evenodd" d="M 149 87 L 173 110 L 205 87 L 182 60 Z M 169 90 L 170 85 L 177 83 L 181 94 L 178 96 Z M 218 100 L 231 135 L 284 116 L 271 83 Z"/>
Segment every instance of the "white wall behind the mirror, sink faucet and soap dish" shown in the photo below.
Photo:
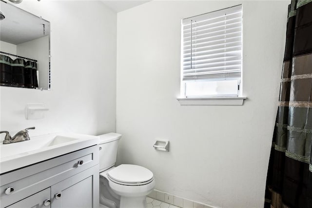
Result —
<path fill-rule="evenodd" d="M 13 136 L 115 131 L 117 15 L 100 1 L 24 0 L 19 7 L 51 22 L 51 90 L 0 87 L 0 129 Z M 25 120 L 27 103 L 50 110 Z M 1 135 L 3 139 L 4 135 Z"/>

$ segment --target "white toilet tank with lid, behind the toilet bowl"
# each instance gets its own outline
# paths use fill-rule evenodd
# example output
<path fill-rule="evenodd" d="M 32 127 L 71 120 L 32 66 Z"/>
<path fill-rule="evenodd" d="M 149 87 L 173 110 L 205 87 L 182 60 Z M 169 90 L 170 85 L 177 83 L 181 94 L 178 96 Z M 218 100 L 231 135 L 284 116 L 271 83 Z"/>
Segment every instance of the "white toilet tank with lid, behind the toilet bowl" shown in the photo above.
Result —
<path fill-rule="evenodd" d="M 118 142 L 121 134 L 108 133 L 99 136 L 99 172 L 107 170 L 116 163 Z"/>

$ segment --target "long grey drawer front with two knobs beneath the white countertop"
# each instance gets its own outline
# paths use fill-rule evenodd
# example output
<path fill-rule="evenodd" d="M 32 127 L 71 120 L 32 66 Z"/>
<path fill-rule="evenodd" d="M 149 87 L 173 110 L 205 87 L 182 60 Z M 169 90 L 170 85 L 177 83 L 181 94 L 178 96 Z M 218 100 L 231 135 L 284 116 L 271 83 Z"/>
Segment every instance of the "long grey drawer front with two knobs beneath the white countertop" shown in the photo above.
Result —
<path fill-rule="evenodd" d="M 96 165 L 98 146 L 91 146 L 1 175 L 1 208 Z M 8 187 L 14 189 L 10 195 Z"/>

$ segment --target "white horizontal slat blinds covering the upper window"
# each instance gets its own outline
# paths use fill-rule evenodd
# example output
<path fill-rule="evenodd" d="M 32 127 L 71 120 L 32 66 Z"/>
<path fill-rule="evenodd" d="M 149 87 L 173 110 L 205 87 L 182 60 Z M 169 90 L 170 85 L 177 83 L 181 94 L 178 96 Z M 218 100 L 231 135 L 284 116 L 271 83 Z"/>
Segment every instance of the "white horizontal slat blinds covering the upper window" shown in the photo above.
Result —
<path fill-rule="evenodd" d="M 182 26 L 183 81 L 241 77 L 241 5 L 184 19 Z"/>

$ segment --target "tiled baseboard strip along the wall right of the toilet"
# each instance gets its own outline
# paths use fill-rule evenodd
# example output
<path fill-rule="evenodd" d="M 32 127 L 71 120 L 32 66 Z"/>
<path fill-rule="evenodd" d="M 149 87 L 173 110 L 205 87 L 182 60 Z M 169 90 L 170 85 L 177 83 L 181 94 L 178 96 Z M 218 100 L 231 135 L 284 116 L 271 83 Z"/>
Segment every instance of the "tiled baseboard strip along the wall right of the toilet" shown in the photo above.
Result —
<path fill-rule="evenodd" d="M 185 199 L 179 196 L 175 196 L 160 190 L 154 189 L 148 197 L 162 201 L 180 208 L 215 208 L 203 203 L 195 202 L 189 199 Z"/>

